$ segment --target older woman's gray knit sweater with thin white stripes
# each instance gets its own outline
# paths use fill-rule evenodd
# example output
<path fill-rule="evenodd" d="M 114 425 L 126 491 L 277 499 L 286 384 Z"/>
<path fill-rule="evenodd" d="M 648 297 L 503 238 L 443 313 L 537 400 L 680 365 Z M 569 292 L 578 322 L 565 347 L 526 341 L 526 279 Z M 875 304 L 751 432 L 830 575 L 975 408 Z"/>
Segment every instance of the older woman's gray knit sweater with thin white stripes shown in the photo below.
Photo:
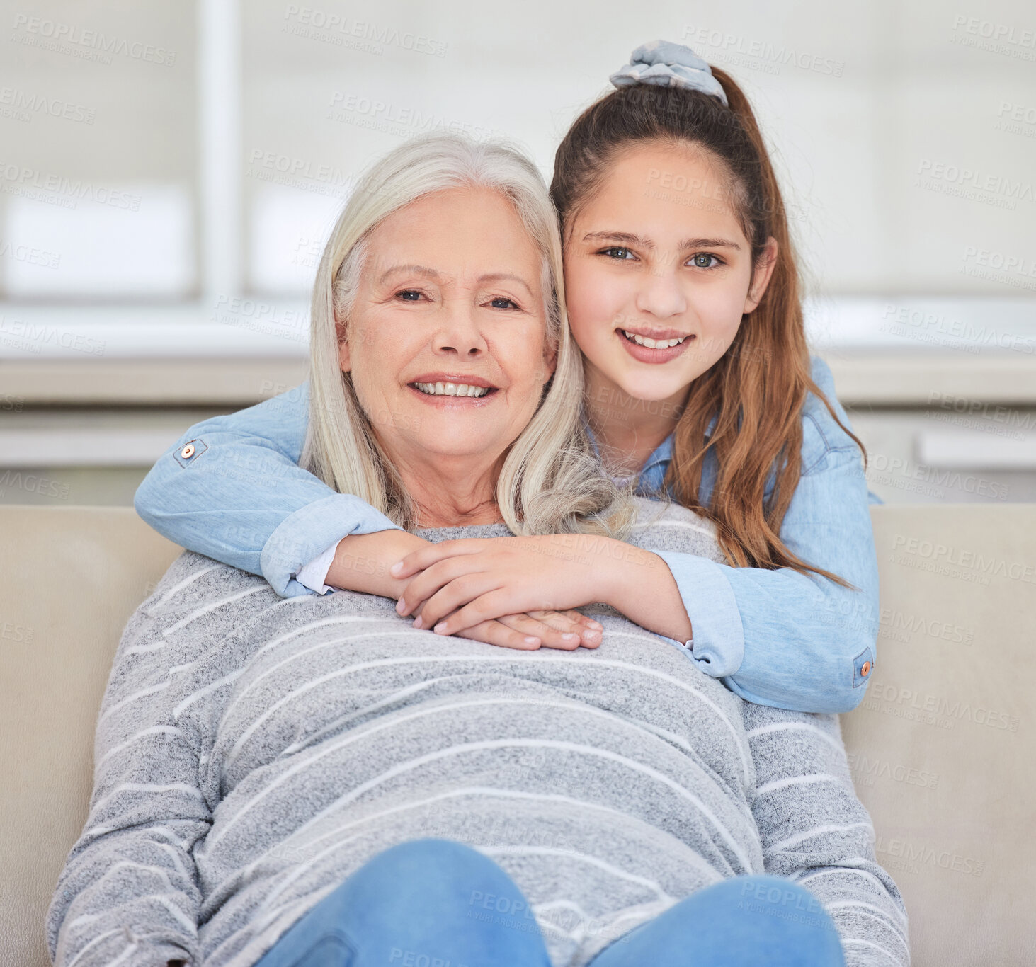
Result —
<path fill-rule="evenodd" d="M 639 515 L 632 543 L 722 560 L 690 511 Z M 908 964 L 837 717 L 744 702 L 675 643 L 583 610 L 597 649 L 515 651 L 182 554 L 115 655 L 47 916 L 55 964 L 247 967 L 365 861 L 429 836 L 507 870 L 555 967 L 762 872 L 818 899 L 847 964 Z"/>

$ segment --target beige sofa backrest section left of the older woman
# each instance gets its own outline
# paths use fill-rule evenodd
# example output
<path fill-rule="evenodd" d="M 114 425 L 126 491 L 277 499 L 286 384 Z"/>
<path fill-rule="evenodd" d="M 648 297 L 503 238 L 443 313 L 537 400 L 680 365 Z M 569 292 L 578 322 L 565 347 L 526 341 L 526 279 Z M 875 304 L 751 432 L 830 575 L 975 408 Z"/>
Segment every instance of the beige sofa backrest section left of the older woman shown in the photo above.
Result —
<path fill-rule="evenodd" d="M 44 917 L 93 789 L 126 619 L 181 553 L 131 507 L 0 506 L 0 964 L 46 967 Z"/>

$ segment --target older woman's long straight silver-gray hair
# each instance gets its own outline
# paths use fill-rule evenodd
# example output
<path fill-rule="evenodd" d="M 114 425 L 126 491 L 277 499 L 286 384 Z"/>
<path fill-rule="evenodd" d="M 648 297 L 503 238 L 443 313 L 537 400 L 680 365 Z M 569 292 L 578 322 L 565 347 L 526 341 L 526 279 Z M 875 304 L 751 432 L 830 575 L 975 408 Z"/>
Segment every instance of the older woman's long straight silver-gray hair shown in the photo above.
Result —
<path fill-rule="evenodd" d="M 511 445 L 496 482 L 500 516 L 515 534 L 593 533 L 623 538 L 633 522 L 629 490 L 603 472 L 580 419 L 582 357 L 564 309 L 557 215 L 536 166 L 501 141 L 416 138 L 379 158 L 359 179 L 324 248 L 313 289 L 310 423 L 300 463 L 339 493 L 354 494 L 401 527 L 416 509 L 374 435 L 372 420 L 339 364 L 371 232 L 390 214 L 434 192 L 479 186 L 501 193 L 542 255 L 548 343 L 557 362 L 540 405 Z"/>

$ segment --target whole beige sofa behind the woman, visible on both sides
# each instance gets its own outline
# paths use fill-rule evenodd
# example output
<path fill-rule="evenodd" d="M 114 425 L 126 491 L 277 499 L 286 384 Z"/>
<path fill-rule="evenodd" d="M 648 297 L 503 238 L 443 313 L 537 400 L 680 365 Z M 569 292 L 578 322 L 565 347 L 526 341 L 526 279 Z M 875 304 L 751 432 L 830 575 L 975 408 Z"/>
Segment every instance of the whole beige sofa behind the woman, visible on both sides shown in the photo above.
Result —
<path fill-rule="evenodd" d="M 841 724 L 913 964 L 1036 964 L 1036 505 L 871 515 L 876 661 Z M 180 549 L 128 507 L 0 506 L 0 964 L 47 967 L 112 657 Z"/>

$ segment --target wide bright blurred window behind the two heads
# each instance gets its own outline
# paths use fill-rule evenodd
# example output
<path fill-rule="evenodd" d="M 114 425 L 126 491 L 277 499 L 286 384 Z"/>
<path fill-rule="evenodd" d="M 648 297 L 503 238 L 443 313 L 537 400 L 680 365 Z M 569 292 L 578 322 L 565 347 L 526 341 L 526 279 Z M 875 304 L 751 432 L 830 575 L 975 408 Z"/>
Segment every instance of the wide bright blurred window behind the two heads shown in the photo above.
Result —
<path fill-rule="evenodd" d="M 19 320 L 89 326 L 109 353 L 305 352 L 316 262 L 362 168 L 404 138 L 458 130 L 508 136 L 549 175 L 566 126 L 645 29 L 728 70 L 755 106 L 817 341 L 956 352 L 984 325 L 1004 334 L 981 351 L 1036 348 L 1024 4 L 811 0 L 789 18 L 664 0 L 660 28 L 628 4 L 593 9 L 16 8 L 0 75 L 0 353 L 66 351 L 17 342 Z"/>

